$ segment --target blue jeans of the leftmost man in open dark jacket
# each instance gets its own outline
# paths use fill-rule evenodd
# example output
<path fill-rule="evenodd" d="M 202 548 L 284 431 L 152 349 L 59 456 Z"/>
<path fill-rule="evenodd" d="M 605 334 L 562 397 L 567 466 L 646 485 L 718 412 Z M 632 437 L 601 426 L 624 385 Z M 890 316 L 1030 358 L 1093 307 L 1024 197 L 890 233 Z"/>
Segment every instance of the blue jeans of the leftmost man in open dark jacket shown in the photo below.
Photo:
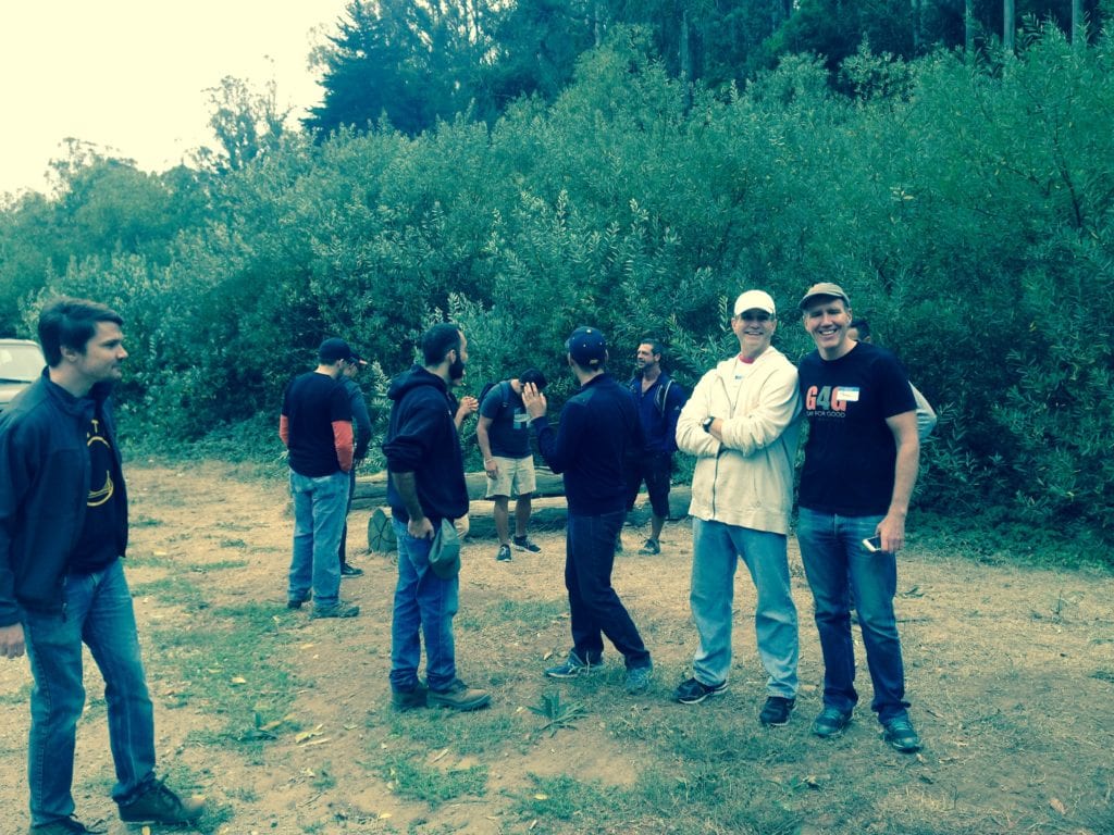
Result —
<path fill-rule="evenodd" d="M 108 743 L 116 765 L 113 799 L 126 803 L 155 770 L 155 718 L 147 694 L 131 592 L 116 560 L 66 580 L 61 612 L 23 613 L 27 656 L 35 676 L 28 784 L 31 824 L 74 814 L 74 745 L 85 706 L 81 644 L 105 679 Z"/>

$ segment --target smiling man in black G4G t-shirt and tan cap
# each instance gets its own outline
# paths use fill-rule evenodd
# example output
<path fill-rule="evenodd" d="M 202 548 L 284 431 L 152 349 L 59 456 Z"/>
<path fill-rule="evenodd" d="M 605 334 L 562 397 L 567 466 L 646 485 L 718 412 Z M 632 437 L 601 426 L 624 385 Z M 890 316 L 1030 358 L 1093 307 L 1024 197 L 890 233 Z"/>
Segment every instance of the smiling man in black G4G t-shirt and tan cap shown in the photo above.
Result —
<path fill-rule="evenodd" d="M 849 610 L 853 591 L 874 688 L 871 708 L 886 741 L 912 753 L 920 738 L 905 700 L 893 596 L 895 554 L 905 544 L 920 454 L 916 402 L 896 356 L 848 335 L 851 305 L 839 285 L 814 285 L 800 306 L 817 345 L 799 369 L 809 438 L 797 527 L 824 658 L 824 707 L 812 733 L 841 734 L 859 698 Z"/>

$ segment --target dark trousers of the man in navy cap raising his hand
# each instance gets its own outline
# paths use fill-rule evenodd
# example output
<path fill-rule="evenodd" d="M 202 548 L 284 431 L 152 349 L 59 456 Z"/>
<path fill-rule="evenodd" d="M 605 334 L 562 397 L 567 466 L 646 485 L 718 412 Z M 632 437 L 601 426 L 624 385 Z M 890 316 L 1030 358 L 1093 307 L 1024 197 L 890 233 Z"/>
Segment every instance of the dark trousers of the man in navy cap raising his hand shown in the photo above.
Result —
<path fill-rule="evenodd" d="M 573 649 L 595 664 L 604 651 L 603 636 L 623 654 L 627 669 L 649 666 L 649 652 L 631 615 L 612 588 L 615 538 L 626 513 L 568 517 L 565 532 L 565 588 L 573 626 Z"/>

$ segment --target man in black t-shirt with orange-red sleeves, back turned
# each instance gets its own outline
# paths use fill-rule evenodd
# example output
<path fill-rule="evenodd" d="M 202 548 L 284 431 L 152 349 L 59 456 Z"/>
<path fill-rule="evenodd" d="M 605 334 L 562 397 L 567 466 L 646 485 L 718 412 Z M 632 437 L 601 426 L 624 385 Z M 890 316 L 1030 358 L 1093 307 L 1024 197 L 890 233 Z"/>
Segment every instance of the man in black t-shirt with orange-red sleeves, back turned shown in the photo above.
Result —
<path fill-rule="evenodd" d="M 313 597 L 314 618 L 353 618 L 360 607 L 340 599 L 336 553 L 344 529 L 352 469 L 352 406 L 340 383 L 352 348 L 334 337 L 321 343 L 317 367 L 286 386 L 278 435 L 290 451 L 294 497 L 294 553 L 286 606 L 301 609 Z"/>

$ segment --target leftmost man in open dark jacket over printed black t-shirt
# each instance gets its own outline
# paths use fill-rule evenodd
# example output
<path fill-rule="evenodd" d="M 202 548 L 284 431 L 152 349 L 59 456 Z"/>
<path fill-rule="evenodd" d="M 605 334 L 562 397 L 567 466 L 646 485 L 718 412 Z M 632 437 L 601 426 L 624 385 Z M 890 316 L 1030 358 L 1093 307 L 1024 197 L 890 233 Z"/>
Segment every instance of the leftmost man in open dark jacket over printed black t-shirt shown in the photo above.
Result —
<path fill-rule="evenodd" d="M 179 824 L 204 802 L 155 777 L 155 720 L 121 560 L 127 493 L 107 401 L 123 320 L 62 298 L 43 308 L 48 367 L 0 415 L 0 655 L 35 677 L 28 775 L 32 835 L 90 832 L 74 817 L 74 747 L 85 705 L 81 644 L 105 679 L 113 799 L 129 823 Z"/>

